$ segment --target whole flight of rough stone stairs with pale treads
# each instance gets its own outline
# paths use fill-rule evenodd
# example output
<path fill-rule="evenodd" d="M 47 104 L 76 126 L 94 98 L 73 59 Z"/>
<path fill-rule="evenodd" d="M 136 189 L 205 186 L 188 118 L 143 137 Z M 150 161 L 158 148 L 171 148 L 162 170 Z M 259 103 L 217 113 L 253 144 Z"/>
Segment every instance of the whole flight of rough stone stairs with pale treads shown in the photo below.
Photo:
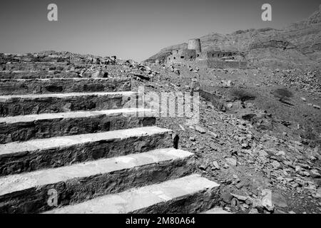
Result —
<path fill-rule="evenodd" d="M 198 213 L 217 204 L 219 185 L 194 173 L 172 131 L 152 110 L 125 107 L 136 94 L 130 78 L 48 78 L 41 63 L 17 64 L 10 69 L 29 79 L 0 71 L 0 213 Z"/>

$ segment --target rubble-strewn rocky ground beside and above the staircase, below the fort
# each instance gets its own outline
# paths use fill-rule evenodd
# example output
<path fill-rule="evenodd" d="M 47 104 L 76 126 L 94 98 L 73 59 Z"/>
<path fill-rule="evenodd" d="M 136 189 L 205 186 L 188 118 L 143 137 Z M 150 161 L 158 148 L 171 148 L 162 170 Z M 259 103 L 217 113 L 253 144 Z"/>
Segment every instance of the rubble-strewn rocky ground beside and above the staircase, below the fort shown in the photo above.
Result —
<path fill-rule="evenodd" d="M 74 77 L 130 77 L 132 89 L 200 93 L 200 121 L 158 118 L 195 153 L 198 172 L 221 184 L 220 206 L 235 213 L 321 213 L 321 88 L 317 69 L 210 69 L 51 52 L 55 69 Z M 0 56 L 46 62 L 49 53 Z M 61 56 L 61 57 L 59 57 Z M 35 59 L 36 58 L 36 59 Z M 22 59 L 22 60 L 21 60 Z M 59 65 L 59 60 L 68 64 Z M 12 66 L 19 66 L 12 65 Z M 89 66 L 89 67 L 88 67 Z M 24 66 L 26 68 L 26 66 Z M 30 69 L 32 71 L 32 69 Z"/>

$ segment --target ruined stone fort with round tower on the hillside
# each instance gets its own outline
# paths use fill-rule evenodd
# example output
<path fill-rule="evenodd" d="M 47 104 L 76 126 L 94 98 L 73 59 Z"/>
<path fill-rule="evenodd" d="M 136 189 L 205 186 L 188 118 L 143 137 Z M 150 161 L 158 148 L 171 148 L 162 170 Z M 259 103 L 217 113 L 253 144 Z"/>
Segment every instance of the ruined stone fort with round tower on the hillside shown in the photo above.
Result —
<path fill-rule="evenodd" d="M 200 63 L 209 68 L 247 68 L 244 53 L 238 51 L 202 51 L 199 38 L 188 40 L 188 48 L 175 49 L 166 58 L 167 64 Z"/>

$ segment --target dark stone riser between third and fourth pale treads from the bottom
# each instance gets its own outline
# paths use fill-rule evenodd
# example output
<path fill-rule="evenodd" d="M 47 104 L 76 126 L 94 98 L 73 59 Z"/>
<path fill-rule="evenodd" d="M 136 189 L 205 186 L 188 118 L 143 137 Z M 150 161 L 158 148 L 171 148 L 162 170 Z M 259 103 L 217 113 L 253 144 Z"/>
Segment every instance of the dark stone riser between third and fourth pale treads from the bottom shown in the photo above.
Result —
<path fill-rule="evenodd" d="M 38 138 L 100 133 L 155 125 L 156 118 L 98 115 L 83 118 L 57 118 L 21 123 L 0 123 L 0 144 Z"/>

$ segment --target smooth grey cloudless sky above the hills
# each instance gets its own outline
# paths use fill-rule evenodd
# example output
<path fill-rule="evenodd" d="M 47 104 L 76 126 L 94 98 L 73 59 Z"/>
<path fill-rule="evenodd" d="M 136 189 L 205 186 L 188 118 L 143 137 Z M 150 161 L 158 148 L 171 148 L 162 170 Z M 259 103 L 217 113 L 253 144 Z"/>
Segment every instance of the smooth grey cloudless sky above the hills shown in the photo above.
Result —
<path fill-rule="evenodd" d="M 47 6 L 58 5 L 58 21 Z M 272 21 L 261 6 L 272 5 Z M 24 0 L 0 4 L 0 52 L 44 50 L 142 61 L 166 46 L 211 32 L 282 28 L 306 19 L 320 0 Z"/>

